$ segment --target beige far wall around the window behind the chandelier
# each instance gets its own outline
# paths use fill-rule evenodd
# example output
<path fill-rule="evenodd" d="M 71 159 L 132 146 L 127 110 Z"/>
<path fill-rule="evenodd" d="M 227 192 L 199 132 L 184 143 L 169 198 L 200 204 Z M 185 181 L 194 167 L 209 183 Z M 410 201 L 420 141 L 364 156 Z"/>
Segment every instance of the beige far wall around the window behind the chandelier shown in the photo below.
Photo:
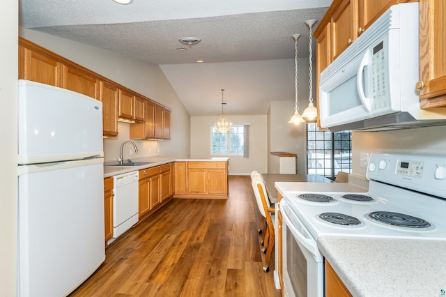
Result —
<path fill-rule="evenodd" d="M 267 172 L 267 137 L 266 115 L 262 116 L 226 116 L 233 124 L 251 123 L 249 125 L 249 158 L 230 155 L 229 174 L 249 174 L 256 169 Z M 192 116 L 190 123 L 192 131 L 190 157 L 211 158 L 210 155 L 210 124 L 218 121 L 218 116 Z M 225 156 L 226 157 L 226 156 Z"/>

